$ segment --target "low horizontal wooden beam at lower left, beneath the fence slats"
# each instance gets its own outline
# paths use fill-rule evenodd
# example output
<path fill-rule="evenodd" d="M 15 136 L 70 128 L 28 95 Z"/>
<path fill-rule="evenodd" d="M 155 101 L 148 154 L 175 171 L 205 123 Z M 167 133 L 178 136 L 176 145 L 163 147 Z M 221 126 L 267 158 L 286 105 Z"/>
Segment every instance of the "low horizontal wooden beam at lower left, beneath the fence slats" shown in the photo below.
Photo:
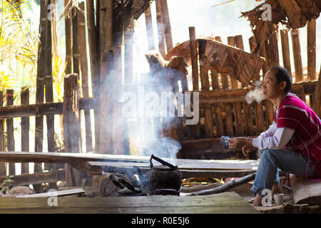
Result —
<path fill-rule="evenodd" d="M 4 182 L 6 176 L 0 176 L 0 183 Z M 21 175 L 14 175 L 11 177 L 14 182 L 9 182 L 9 186 L 33 185 L 45 182 L 55 183 L 58 180 L 65 180 L 64 170 L 52 170 L 50 172 L 35 172 L 32 174 L 24 173 Z M 0 184 L 0 187 L 1 184 Z"/>

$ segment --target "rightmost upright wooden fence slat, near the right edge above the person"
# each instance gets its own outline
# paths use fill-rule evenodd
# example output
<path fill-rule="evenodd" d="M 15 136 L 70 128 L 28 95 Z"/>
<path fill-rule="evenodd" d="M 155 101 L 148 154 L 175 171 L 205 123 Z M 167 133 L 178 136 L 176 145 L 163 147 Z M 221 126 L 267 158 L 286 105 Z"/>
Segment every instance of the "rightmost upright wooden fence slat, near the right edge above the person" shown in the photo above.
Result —
<path fill-rule="evenodd" d="M 310 81 L 315 81 L 317 78 L 316 72 L 316 25 L 315 19 L 307 21 L 307 79 Z"/>

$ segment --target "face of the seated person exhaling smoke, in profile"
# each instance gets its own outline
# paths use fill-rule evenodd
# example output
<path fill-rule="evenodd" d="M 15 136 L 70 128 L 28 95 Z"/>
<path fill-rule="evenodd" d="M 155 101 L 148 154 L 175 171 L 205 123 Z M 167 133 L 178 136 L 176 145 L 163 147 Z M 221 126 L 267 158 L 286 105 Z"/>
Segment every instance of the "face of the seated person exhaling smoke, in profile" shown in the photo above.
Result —
<path fill-rule="evenodd" d="M 281 93 L 284 93 L 285 82 L 277 83 L 275 73 L 267 71 L 263 80 L 263 94 L 265 99 L 277 98 Z"/>

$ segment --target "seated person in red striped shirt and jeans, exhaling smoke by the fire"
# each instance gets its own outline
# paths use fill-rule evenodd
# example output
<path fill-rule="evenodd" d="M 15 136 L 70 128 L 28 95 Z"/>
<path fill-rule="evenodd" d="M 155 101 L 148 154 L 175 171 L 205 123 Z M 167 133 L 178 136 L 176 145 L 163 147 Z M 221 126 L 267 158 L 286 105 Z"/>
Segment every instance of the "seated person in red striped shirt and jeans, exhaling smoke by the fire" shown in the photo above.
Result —
<path fill-rule="evenodd" d="M 290 73 L 279 66 L 270 68 L 263 93 L 277 107 L 272 125 L 258 138 L 229 141 L 230 147 L 242 148 L 245 156 L 259 149 L 260 163 L 251 188 L 254 206 L 262 205 L 262 190 L 269 189 L 272 195 L 280 192 L 277 168 L 307 179 L 321 177 L 321 120 L 290 90 Z"/>

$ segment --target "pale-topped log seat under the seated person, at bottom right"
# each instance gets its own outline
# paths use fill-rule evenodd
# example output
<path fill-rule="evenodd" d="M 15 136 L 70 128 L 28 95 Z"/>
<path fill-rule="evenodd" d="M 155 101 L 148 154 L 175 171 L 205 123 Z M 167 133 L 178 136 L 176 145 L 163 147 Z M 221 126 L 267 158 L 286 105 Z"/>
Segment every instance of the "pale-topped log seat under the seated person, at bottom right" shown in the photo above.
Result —
<path fill-rule="evenodd" d="M 295 204 L 320 204 L 321 182 L 308 181 L 304 177 L 290 177 Z"/>

